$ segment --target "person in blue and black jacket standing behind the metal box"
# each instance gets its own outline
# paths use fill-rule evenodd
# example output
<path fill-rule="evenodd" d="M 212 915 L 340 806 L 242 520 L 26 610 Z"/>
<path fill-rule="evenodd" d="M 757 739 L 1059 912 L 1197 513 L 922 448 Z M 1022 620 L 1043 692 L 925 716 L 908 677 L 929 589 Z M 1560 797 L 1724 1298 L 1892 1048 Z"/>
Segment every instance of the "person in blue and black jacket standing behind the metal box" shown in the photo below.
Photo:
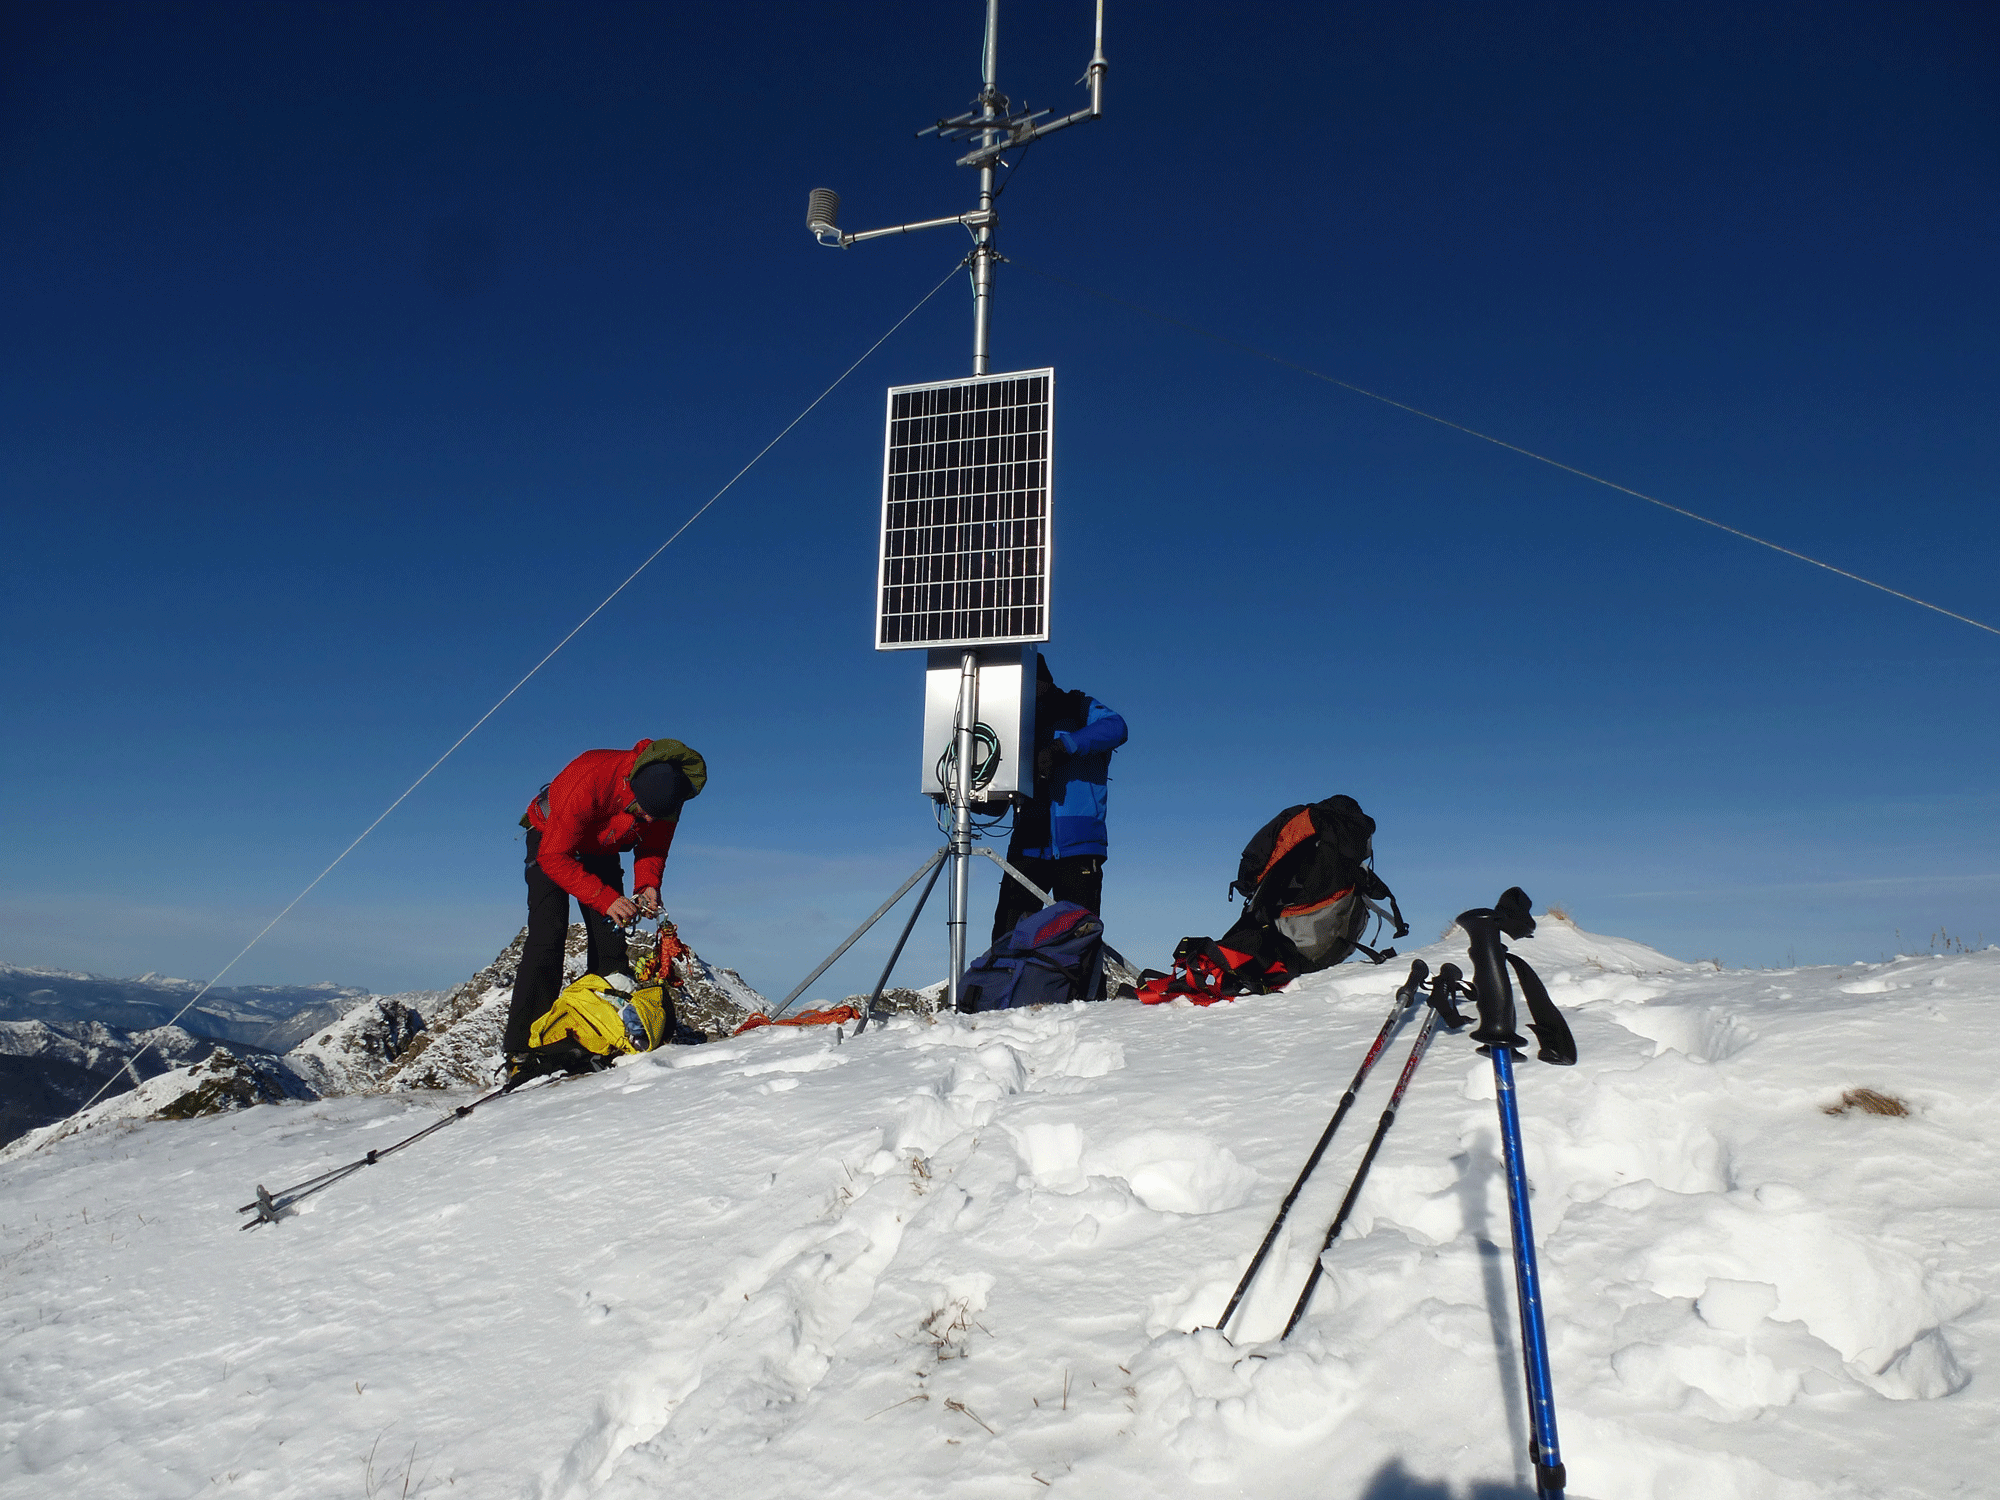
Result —
<path fill-rule="evenodd" d="M 1126 742 L 1124 720 L 1084 692 L 1062 692 L 1036 656 L 1034 798 L 1014 808 L 1006 862 L 1060 902 L 1092 912 L 1104 898 L 1104 782 L 1112 750 Z M 1040 904 L 1018 880 L 1000 880 L 994 942 Z"/>

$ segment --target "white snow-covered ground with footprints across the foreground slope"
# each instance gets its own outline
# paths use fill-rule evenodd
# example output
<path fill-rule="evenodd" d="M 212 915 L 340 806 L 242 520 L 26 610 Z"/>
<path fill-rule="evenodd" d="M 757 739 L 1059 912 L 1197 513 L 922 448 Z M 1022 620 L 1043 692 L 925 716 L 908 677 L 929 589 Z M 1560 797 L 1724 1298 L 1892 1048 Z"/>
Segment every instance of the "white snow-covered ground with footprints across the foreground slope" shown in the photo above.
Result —
<path fill-rule="evenodd" d="M 1994 1494 L 2000 952 L 1718 972 L 1560 920 L 1514 948 L 1582 1050 L 1520 1084 L 1572 1494 Z M 1190 1332 L 1402 972 L 674 1048 L 254 1232 L 252 1184 L 440 1096 L 16 1156 L 0 1496 L 1532 1494 L 1490 1068 L 1462 1036 L 1292 1340 L 1268 1342 L 1404 1042 L 1236 1342 Z M 1910 1112 L 1828 1114 L 1860 1088 Z"/>

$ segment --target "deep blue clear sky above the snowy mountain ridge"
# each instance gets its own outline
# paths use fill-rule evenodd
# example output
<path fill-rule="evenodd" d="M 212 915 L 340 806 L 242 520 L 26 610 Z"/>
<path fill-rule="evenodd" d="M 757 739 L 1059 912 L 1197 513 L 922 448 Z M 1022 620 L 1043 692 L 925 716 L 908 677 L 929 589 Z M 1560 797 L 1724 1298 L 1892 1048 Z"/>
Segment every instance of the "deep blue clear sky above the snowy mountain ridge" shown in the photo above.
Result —
<path fill-rule="evenodd" d="M 1088 0 L 1004 10 L 1002 86 L 1080 102 Z M 0 8 L 0 958 L 206 978 L 936 282 L 960 232 L 822 250 L 804 200 L 970 206 L 912 132 L 980 16 Z M 1106 32 L 1008 254 L 2000 624 L 1990 6 Z M 938 842 L 920 656 L 870 650 L 880 412 L 968 346 L 952 286 L 232 982 L 462 978 L 528 794 L 672 734 L 668 904 L 790 988 Z M 1004 268 L 1036 364 L 1132 958 L 1332 792 L 1422 938 L 1518 882 L 1728 964 L 2000 940 L 2000 638 Z"/>

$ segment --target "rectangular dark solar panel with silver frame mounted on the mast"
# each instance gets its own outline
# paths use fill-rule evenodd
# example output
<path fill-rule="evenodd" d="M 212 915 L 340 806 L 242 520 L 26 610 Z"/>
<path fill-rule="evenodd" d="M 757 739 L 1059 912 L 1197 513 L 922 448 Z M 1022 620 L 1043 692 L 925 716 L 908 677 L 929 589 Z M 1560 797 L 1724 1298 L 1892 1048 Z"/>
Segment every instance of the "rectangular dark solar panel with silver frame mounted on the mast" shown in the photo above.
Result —
<path fill-rule="evenodd" d="M 888 392 L 876 650 L 1048 640 L 1054 370 Z"/>

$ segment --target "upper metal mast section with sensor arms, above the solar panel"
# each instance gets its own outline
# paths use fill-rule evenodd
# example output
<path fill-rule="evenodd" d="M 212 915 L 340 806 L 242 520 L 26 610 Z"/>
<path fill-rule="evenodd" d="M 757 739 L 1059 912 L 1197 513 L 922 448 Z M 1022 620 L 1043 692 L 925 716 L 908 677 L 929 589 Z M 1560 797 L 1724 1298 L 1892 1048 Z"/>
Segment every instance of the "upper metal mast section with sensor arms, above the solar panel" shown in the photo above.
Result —
<path fill-rule="evenodd" d="M 998 168 L 1006 164 L 1004 156 L 1008 152 L 1024 150 L 1036 140 L 1042 140 L 1042 136 L 1068 130 L 1072 124 L 1102 118 L 1104 74 L 1110 72 L 1110 64 L 1104 60 L 1104 0 L 1098 0 L 1098 28 L 1096 42 L 1090 52 L 1090 64 L 1078 80 L 1090 90 L 1090 104 L 1084 108 L 1050 118 L 1054 110 L 1036 110 L 1022 100 L 1016 110 L 1014 102 L 1000 92 L 998 68 L 1000 0 L 986 0 L 986 46 L 982 48 L 982 82 L 978 98 L 972 100 L 972 108 L 964 114 L 952 116 L 950 120 L 938 120 L 936 124 L 924 126 L 916 132 L 918 136 L 936 136 L 938 140 L 978 140 L 970 152 L 958 158 L 958 166 L 978 168 L 978 208 L 964 214 L 952 214 L 948 218 L 924 218 L 914 224 L 892 224 L 880 230 L 846 234 L 840 228 L 838 192 L 832 188 L 814 188 L 806 200 L 806 228 L 812 230 L 812 236 L 820 244 L 840 250 L 860 244 L 862 240 L 880 240 L 890 234 L 914 234 L 916 230 L 936 230 L 946 224 L 964 224 L 972 230 L 972 374 L 976 376 L 988 374 L 994 264 L 1000 260 L 1000 248 L 994 242 L 994 232 L 1000 228 L 1000 214 L 994 212 L 994 198 L 998 196 L 994 190 Z"/>

